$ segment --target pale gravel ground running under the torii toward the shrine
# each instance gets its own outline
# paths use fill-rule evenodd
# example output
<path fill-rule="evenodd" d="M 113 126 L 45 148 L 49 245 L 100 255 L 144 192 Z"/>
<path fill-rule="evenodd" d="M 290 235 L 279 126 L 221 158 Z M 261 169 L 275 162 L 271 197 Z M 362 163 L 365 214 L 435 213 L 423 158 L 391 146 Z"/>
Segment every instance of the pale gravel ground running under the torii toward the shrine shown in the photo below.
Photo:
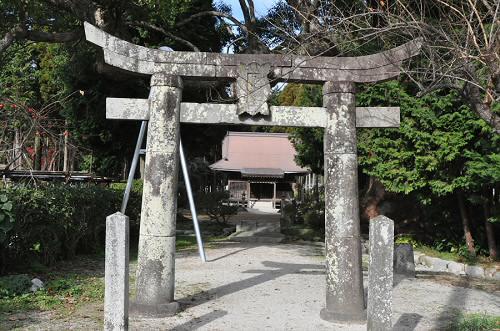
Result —
<path fill-rule="evenodd" d="M 366 330 L 366 324 L 320 319 L 325 303 L 321 247 L 224 243 L 207 250 L 207 257 L 203 264 L 195 252 L 178 254 L 176 300 L 182 311 L 177 316 L 131 317 L 130 329 Z M 500 315 L 498 282 L 429 275 L 396 281 L 395 330 L 443 330 L 459 311 Z M 51 312 L 18 318 L 23 330 L 100 330 L 102 305 L 82 307 L 63 319 Z"/>

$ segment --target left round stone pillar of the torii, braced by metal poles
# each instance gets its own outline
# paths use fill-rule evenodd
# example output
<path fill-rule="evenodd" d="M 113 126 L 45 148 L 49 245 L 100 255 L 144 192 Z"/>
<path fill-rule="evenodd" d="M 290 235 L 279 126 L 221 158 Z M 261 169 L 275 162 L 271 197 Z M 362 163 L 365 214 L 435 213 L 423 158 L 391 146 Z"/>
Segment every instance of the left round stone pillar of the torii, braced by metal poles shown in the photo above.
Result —
<path fill-rule="evenodd" d="M 171 316 L 179 309 L 174 289 L 181 99 L 179 76 L 151 77 L 137 296 L 131 304 L 132 313 L 143 316 Z"/>

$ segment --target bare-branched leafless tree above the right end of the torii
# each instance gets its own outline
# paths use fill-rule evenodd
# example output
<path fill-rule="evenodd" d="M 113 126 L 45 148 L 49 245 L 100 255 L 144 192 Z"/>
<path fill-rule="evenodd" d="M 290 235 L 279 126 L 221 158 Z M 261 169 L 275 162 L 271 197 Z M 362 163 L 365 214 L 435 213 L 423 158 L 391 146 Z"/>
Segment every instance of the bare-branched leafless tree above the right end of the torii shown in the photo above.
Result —
<path fill-rule="evenodd" d="M 500 131 L 498 0 L 288 0 L 267 19 L 276 49 L 310 55 L 361 55 L 420 37 L 422 56 L 406 73 L 421 94 L 454 89 Z"/>

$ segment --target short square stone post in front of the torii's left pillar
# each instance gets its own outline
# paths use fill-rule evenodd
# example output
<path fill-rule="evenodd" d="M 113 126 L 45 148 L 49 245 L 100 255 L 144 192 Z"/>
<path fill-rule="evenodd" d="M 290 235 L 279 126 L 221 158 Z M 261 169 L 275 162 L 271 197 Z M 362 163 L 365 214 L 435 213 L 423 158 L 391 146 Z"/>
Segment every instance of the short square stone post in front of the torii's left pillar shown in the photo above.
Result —
<path fill-rule="evenodd" d="M 106 218 L 104 330 L 128 330 L 129 219 L 122 213 Z"/>

